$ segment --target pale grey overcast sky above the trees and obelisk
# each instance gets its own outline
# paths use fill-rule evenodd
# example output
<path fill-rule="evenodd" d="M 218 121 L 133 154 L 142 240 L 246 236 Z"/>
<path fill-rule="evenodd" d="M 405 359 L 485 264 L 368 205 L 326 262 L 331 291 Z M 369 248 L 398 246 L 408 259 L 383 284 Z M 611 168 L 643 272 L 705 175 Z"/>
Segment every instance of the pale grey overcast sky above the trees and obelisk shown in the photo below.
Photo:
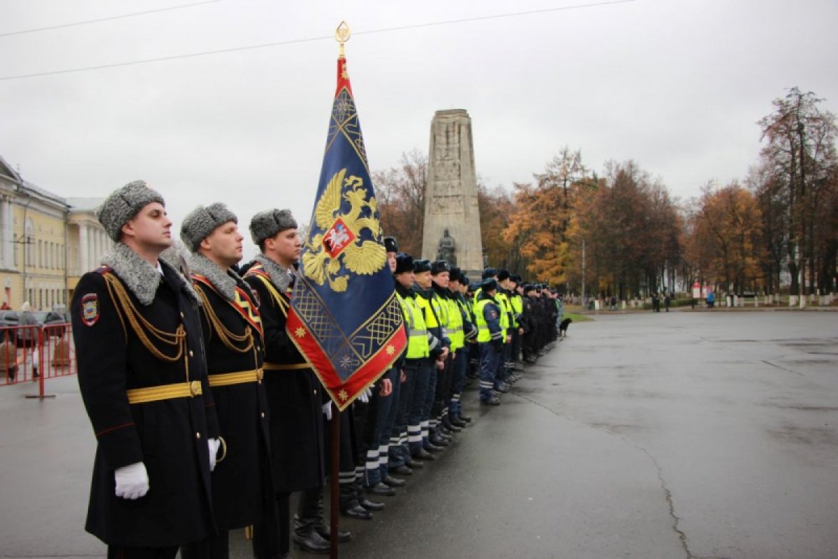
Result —
<path fill-rule="evenodd" d="M 745 177 L 788 88 L 838 112 L 835 0 L 0 0 L 0 155 L 65 197 L 142 178 L 178 229 L 216 201 L 245 228 L 272 207 L 308 222 L 342 19 L 373 170 L 427 153 L 434 111 L 456 108 L 489 187 L 569 146 L 597 172 L 634 159 L 686 199 Z M 453 20 L 468 21 L 405 28 Z"/>

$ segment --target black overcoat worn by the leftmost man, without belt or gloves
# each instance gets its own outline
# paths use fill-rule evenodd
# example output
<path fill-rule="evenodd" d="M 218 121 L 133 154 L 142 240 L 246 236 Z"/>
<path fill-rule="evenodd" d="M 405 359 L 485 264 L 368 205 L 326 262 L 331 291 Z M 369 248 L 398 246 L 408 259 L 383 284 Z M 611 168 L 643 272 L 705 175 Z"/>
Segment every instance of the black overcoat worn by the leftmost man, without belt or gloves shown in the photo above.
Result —
<path fill-rule="evenodd" d="M 218 437 L 209 394 L 198 302 L 180 276 L 161 261 L 164 280 L 151 305 L 127 290 L 133 309 L 158 331 L 183 325 L 186 344 L 174 362 L 143 345 L 126 313 L 117 314 L 106 285 L 108 268 L 82 276 L 71 305 L 79 386 L 96 433 L 91 497 L 85 529 L 111 546 L 163 547 L 202 540 L 214 530 L 207 439 Z M 121 285 L 125 285 L 119 280 Z M 137 321 L 140 322 L 140 321 Z M 148 339 L 166 356 L 177 350 Z M 126 390 L 199 381 L 203 395 L 129 404 Z M 116 497 L 114 470 L 142 462 L 144 497 Z"/>

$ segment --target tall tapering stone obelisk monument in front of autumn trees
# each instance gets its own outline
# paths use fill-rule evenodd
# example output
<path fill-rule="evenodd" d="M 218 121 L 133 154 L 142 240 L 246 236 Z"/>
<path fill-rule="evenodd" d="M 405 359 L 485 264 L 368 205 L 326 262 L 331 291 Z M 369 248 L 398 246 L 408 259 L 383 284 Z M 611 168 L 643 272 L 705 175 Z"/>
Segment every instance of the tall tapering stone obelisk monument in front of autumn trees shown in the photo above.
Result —
<path fill-rule="evenodd" d="M 428 151 L 422 258 L 446 259 L 471 280 L 483 271 L 471 117 L 437 110 Z"/>

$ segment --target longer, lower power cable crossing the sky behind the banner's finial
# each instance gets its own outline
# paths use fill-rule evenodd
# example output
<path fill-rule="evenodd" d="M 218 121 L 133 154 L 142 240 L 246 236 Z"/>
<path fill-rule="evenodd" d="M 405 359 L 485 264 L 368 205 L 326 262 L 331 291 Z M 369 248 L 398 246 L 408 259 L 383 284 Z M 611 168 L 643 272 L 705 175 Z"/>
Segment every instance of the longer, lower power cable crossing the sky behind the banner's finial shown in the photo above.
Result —
<path fill-rule="evenodd" d="M 418 28 L 429 28 L 429 27 L 439 27 L 442 25 L 453 25 L 457 23 L 469 23 L 469 22 L 476 22 L 476 21 L 485 21 L 489 19 L 499 19 L 499 18 L 518 18 L 521 16 L 529 16 L 535 15 L 538 13 L 550 13 L 550 12 L 561 12 L 566 10 L 575 10 L 575 9 L 582 9 L 582 8 L 600 8 L 604 6 L 613 6 L 616 4 L 625 4 L 625 3 L 633 3 L 637 2 L 637 0 L 611 0 L 609 2 L 597 2 L 597 3 L 587 3 L 587 4 L 577 4 L 575 6 L 562 6 L 561 8 L 544 8 L 540 10 L 530 10 L 527 12 L 515 12 L 515 13 L 499 13 L 489 16 L 476 16 L 474 18 L 460 18 L 460 19 L 449 19 L 446 21 L 440 22 L 431 22 L 431 23 L 414 23 L 411 25 L 400 25 L 397 27 L 391 28 L 380 28 L 380 29 L 370 29 L 369 31 L 358 31 L 352 33 L 353 35 L 372 35 L 376 33 L 391 33 L 393 31 L 406 31 L 408 29 L 418 29 Z M 64 70 L 52 70 L 49 72 L 39 72 L 37 74 L 19 74 L 19 75 L 8 75 L 0 77 L 0 81 L 6 81 L 8 79 L 26 79 L 26 78 L 37 78 L 40 76 L 46 75 L 57 75 L 57 74 L 73 74 L 75 72 L 88 72 L 92 70 L 98 69 L 106 69 L 106 68 L 119 68 L 122 66 L 132 66 L 134 64 L 151 64 L 153 62 L 164 62 L 168 60 L 178 60 L 178 59 L 190 59 L 190 58 L 197 58 L 199 56 L 210 56 L 213 54 L 225 54 L 225 53 L 235 53 L 240 52 L 242 50 L 253 50 L 253 49 L 266 49 L 268 47 L 279 47 L 285 46 L 288 44 L 301 44 L 301 43 L 313 43 L 315 41 L 323 41 L 326 39 L 334 39 L 334 35 L 323 35 L 320 37 L 308 37 L 308 38 L 295 38 L 289 39 L 287 41 L 277 41 L 275 43 L 263 43 L 263 44 L 251 44 L 244 47 L 233 47 L 231 49 L 217 49 L 217 50 L 204 50 L 198 53 L 189 53 L 189 54 L 173 54 L 171 56 L 163 56 L 155 59 L 142 59 L 142 60 L 131 60 L 128 62 L 116 62 L 113 64 L 101 64 L 99 66 L 87 66 L 85 68 L 72 68 L 72 69 L 64 69 Z"/>

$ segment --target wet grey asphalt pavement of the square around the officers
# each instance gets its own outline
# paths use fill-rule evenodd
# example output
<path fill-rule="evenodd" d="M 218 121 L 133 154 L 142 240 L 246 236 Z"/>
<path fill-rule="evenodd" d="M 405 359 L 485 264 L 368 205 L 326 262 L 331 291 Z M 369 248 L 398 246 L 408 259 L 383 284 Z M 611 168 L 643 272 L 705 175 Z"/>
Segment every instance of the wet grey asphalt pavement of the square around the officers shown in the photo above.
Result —
<path fill-rule="evenodd" d="M 568 334 L 498 408 L 475 382 L 472 426 L 373 521 L 341 518 L 340 557 L 838 557 L 838 312 L 600 314 Z M 0 387 L 0 557 L 101 557 L 75 377 L 46 386 Z"/>

